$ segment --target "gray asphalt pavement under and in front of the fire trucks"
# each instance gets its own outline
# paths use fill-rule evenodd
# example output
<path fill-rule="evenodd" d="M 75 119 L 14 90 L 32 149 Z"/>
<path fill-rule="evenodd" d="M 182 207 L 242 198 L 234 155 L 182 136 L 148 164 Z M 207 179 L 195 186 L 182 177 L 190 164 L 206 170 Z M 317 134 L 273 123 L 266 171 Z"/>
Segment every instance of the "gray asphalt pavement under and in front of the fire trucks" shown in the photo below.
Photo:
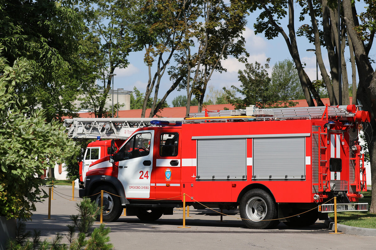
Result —
<path fill-rule="evenodd" d="M 48 192 L 48 188 L 44 188 Z M 69 216 L 78 214 L 76 201 L 69 200 L 72 188 L 58 186 L 51 201 L 51 219 L 48 220 L 48 200 L 36 204 L 32 221 L 26 222 L 28 230 L 40 230 L 42 238 L 53 238 L 57 232 L 67 232 Z M 75 189 L 75 195 L 78 190 Z M 292 229 L 280 223 L 276 229 L 247 229 L 236 211 L 224 211 L 223 217 L 209 209 L 191 207 L 186 226 L 182 226 L 183 211 L 163 215 L 154 223 L 141 223 L 135 216 L 121 216 L 116 222 L 107 223 L 111 228 L 110 241 L 115 249 L 375 249 L 376 236 L 329 234 L 323 221 L 310 227 Z M 235 218 L 236 217 L 236 218 Z M 99 227 L 96 223 L 94 227 Z M 67 243 L 64 238 L 63 242 Z"/>

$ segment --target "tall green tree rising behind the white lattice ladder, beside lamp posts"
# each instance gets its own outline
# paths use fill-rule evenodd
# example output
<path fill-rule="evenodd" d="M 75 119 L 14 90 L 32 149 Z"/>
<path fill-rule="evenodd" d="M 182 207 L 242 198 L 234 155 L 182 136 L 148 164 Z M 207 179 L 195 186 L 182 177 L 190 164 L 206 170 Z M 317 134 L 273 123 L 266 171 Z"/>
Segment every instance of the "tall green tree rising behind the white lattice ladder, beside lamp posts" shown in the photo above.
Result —
<path fill-rule="evenodd" d="M 114 77 L 111 74 L 116 68 L 126 68 L 129 53 L 138 50 L 128 29 L 134 21 L 129 16 L 132 5 L 132 1 L 99 0 L 81 6 L 83 11 L 94 9 L 96 13 L 96 19 L 88 23 L 80 39 L 80 44 L 88 48 L 81 56 L 89 65 L 86 70 L 89 86 L 84 91 L 82 108 L 89 109 L 98 118 L 109 116 L 105 105 Z"/>

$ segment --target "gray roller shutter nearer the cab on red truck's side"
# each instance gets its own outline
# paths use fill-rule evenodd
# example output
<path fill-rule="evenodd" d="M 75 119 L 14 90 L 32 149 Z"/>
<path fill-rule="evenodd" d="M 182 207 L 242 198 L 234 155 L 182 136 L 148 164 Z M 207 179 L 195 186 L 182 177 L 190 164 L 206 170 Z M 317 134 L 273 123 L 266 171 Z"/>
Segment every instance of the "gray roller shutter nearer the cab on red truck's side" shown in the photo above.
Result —
<path fill-rule="evenodd" d="M 197 140 L 197 179 L 246 179 L 246 139 Z"/>

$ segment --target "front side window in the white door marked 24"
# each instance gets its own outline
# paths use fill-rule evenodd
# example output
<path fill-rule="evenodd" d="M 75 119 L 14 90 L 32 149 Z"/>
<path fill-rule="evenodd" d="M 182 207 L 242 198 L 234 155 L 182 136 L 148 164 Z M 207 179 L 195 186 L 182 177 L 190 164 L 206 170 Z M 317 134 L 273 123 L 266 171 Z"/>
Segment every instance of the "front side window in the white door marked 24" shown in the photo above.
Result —
<path fill-rule="evenodd" d="M 139 133 L 127 141 L 127 143 L 120 148 L 119 153 L 124 154 L 124 159 L 149 155 L 151 140 L 151 133 Z"/>

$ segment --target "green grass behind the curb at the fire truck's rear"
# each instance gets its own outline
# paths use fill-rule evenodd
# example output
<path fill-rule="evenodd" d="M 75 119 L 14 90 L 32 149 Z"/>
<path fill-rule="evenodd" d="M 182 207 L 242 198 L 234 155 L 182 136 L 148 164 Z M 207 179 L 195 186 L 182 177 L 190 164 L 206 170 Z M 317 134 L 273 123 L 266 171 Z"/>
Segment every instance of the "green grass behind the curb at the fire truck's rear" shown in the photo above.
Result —
<path fill-rule="evenodd" d="M 371 191 L 363 192 L 364 198 L 359 199 L 359 203 L 368 203 L 371 205 Z M 329 217 L 334 220 L 334 213 L 329 213 Z M 365 227 L 376 228 L 376 214 L 369 212 L 338 212 L 337 223 L 352 226 L 352 227 Z"/>

